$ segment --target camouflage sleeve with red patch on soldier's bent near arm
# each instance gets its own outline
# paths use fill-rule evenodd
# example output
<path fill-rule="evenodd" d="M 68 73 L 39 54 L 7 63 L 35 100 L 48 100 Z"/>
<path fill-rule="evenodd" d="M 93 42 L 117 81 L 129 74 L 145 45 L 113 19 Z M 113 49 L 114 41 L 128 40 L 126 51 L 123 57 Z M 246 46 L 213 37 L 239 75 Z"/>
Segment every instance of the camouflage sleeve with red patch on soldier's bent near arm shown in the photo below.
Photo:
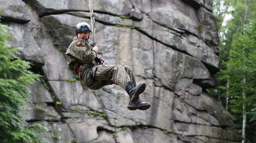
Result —
<path fill-rule="evenodd" d="M 75 40 L 70 44 L 66 55 L 73 56 L 83 64 L 95 64 L 97 52 L 92 50 L 92 47 L 84 45 L 83 40 Z"/>

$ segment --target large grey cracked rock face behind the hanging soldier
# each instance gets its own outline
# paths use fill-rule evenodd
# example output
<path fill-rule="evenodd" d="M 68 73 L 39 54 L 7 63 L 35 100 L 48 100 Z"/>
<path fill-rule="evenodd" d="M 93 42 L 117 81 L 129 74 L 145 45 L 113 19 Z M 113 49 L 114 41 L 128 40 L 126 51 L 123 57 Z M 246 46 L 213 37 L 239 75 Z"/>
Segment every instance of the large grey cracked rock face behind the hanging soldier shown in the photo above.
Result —
<path fill-rule="evenodd" d="M 146 111 L 129 111 L 119 86 L 90 90 L 68 70 L 64 53 L 89 1 L 0 0 L 12 46 L 43 79 L 30 86 L 27 124 L 49 142 L 239 142 L 233 117 L 206 92 L 219 70 L 212 0 L 95 0 L 95 40 L 106 64 L 129 65 L 146 82 Z"/>

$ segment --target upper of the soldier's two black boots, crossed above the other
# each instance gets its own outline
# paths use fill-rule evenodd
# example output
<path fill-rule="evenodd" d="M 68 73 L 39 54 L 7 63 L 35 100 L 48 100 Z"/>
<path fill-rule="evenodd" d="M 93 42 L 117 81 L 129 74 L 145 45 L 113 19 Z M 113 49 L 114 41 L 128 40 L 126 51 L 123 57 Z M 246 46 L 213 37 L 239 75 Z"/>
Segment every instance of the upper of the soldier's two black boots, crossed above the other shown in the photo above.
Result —
<path fill-rule="evenodd" d="M 125 91 L 130 97 L 130 102 L 137 102 L 139 99 L 139 95 L 145 90 L 145 88 L 145 83 L 140 83 L 137 87 L 134 87 L 132 81 L 127 82 L 125 86 Z"/>

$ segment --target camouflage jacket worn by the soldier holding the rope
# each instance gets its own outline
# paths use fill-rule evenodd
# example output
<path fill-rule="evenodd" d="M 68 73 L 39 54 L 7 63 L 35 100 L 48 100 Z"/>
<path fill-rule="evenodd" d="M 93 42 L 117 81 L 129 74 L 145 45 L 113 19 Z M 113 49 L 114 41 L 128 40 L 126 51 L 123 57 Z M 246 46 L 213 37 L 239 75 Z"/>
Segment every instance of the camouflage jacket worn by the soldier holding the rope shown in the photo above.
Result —
<path fill-rule="evenodd" d="M 66 52 L 68 68 L 76 72 L 78 65 L 83 65 L 84 69 L 92 67 L 96 64 L 94 61 L 96 56 L 97 52 L 87 40 L 75 37 Z"/>

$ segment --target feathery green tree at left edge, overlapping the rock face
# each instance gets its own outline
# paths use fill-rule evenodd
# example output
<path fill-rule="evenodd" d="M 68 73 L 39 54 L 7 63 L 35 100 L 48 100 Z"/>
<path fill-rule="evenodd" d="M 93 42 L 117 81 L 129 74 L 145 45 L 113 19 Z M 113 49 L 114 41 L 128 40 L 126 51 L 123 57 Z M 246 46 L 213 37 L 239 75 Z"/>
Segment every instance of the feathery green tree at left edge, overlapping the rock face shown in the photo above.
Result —
<path fill-rule="evenodd" d="M 34 83 L 39 75 L 30 72 L 29 63 L 20 60 L 16 48 L 9 48 L 7 35 L 0 25 L 0 140 L 7 142 L 43 142 L 37 135 L 45 130 L 42 125 L 34 124 L 23 127 L 24 105 L 29 100 L 28 85 Z"/>

